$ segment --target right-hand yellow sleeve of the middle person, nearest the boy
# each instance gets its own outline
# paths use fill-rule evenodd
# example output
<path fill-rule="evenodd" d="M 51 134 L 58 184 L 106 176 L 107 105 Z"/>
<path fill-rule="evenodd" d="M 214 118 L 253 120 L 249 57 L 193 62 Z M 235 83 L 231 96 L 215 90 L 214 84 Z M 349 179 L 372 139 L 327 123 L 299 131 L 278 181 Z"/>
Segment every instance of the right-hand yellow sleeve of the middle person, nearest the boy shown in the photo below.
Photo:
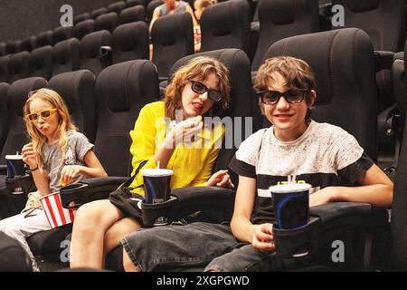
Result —
<path fill-rule="evenodd" d="M 191 183 L 191 187 L 205 187 L 208 185 L 207 181 L 213 174 L 213 168 L 218 158 L 220 152 L 220 146 L 216 146 L 216 144 L 222 145 L 220 140 L 224 138 L 224 127 L 220 126 L 218 129 L 213 130 L 214 136 L 212 140 L 211 148 L 208 149 L 209 153 L 204 160 L 204 167 L 200 171 L 200 173 L 196 176 L 194 181 Z"/>

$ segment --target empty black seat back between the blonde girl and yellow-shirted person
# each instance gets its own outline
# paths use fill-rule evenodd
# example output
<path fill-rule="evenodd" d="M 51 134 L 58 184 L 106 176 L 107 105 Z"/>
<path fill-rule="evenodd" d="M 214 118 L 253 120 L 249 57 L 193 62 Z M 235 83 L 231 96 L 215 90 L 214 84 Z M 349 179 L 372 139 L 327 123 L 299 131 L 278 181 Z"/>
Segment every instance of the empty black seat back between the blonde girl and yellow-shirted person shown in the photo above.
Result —
<path fill-rule="evenodd" d="M 110 65 L 99 73 L 96 95 L 96 155 L 109 176 L 129 176 L 129 131 L 141 108 L 159 96 L 156 66 L 147 60 Z"/>

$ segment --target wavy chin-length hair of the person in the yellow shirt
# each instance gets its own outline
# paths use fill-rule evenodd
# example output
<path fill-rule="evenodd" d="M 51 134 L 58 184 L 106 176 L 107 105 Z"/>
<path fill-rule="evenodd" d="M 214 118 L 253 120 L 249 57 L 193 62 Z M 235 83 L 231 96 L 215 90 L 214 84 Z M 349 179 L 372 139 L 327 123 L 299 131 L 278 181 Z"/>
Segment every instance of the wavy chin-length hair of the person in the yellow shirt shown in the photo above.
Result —
<path fill-rule="evenodd" d="M 229 71 L 223 63 L 207 56 L 194 57 L 190 62 L 181 66 L 172 81 L 167 85 L 164 97 L 166 117 L 175 120 L 175 110 L 182 108 L 182 92 L 190 80 L 203 82 L 210 73 L 219 79 L 219 91 L 222 100 L 215 102 L 208 115 L 222 116 L 223 111 L 229 107 L 231 86 L 229 84 Z"/>

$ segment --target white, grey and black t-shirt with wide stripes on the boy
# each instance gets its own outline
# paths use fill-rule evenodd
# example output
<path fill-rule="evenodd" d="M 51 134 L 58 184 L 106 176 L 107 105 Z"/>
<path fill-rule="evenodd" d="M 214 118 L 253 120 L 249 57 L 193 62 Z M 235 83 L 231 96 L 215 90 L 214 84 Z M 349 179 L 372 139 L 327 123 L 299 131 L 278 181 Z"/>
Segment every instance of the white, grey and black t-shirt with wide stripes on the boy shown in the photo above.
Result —
<path fill-rule="evenodd" d="M 270 186 L 295 175 L 312 185 L 310 192 L 328 186 L 356 186 L 374 162 L 355 137 L 345 130 L 311 121 L 297 140 L 281 141 L 273 126 L 244 140 L 229 167 L 237 174 L 257 179 L 253 224 L 274 222 Z"/>

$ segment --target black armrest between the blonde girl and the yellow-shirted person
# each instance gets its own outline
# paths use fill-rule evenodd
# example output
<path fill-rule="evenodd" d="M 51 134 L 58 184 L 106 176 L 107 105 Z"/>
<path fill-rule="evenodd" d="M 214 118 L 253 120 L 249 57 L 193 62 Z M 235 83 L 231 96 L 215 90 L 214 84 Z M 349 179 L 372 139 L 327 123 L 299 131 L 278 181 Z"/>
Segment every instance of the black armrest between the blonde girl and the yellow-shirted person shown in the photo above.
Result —
<path fill-rule="evenodd" d="M 109 193 L 128 180 L 128 177 L 82 179 L 60 189 L 63 208 L 78 208 L 93 200 L 109 198 Z"/>

